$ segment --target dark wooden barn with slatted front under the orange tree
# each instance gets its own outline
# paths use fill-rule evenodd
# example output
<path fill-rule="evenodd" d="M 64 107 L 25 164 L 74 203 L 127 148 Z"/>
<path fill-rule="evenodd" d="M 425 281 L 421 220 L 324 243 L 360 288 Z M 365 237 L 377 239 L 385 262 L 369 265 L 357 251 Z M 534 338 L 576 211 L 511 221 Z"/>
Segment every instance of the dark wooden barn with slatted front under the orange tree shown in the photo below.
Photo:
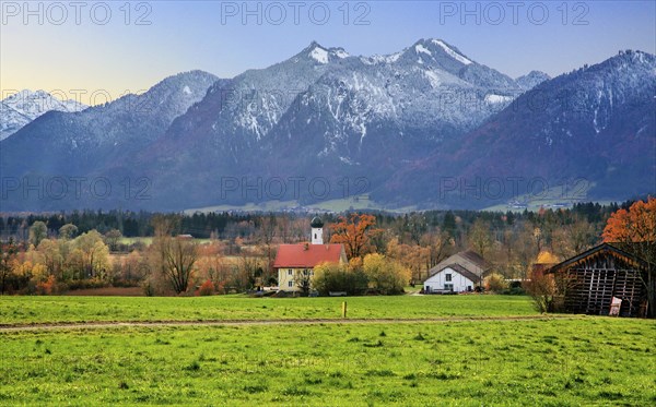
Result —
<path fill-rule="evenodd" d="M 604 243 L 549 268 L 565 287 L 564 310 L 573 313 L 644 316 L 647 263 Z M 620 302 L 621 300 L 621 302 Z M 619 307 L 618 307 L 619 306 Z"/>

